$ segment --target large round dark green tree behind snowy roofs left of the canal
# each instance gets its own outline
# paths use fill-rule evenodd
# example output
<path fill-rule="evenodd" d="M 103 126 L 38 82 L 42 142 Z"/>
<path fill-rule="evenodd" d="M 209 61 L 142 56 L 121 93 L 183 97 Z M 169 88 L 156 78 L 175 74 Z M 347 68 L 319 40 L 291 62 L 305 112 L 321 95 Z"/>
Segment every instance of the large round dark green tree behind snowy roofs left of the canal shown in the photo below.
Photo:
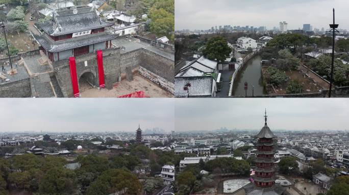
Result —
<path fill-rule="evenodd" d="M 206 48 L 203 50 L 205 57 L 218 62 L 225 61 L 231 52 L 232 49 L 228 46 L 227 40 L 221 36 L 209 39 L 206 43 Z"/>

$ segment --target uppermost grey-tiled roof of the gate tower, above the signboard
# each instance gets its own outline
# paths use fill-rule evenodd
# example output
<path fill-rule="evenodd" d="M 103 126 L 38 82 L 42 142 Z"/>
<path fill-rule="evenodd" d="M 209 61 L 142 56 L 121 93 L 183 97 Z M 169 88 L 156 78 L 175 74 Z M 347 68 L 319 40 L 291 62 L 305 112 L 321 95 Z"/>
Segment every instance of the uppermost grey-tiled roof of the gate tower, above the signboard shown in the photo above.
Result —
<path fill-rule="evenodd" d="M 48 35 L 60 36 L 81 32 L 96 28 L 111 26 L 114 23 L 108 22 L 97 15 L 91 8 L 79 8 L 78 13 L 73 10 L 57 11 L 53 18 L 35 25 L 44 30 Z"/>

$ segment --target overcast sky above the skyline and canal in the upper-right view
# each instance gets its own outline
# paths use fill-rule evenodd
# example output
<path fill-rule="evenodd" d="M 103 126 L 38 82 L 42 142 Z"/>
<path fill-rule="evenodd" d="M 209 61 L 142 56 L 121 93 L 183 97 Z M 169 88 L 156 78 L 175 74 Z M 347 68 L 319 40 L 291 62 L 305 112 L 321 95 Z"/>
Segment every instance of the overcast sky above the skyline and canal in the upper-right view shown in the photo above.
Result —
<path fill-rule="evenodd" d="M 332 8 L 336 10 L 339 28 L 349 29 L 349 1 L 347 0 L 176 0 L 175 28 L 209 29 L 212 26 L 266 26 L 279 27 L 280 21 L 288 29 L 329 28 L 333 22 Z"/>

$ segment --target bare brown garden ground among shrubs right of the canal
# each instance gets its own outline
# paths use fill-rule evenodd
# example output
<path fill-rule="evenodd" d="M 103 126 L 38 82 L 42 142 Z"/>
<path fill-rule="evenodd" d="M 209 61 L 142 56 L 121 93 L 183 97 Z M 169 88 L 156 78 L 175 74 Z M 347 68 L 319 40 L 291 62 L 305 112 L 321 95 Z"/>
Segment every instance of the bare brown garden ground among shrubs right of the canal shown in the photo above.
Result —
<path fill-rule="evenodd" d="M 268 67 L 263 67 L 263 74 L 265 75 L 265 71 Z M 286 83 L 280 85 L 280 86 L 274 86 L 275 91 L 271 88 L 268 87 L 268 94 L 285 94 L 286 93 L 286 88 L 288 82 L 292 80 L 298 80 L 300 83 L 303 85 L 303 92 L 304 93 L 312 93 L 312 92 L 319 92 L 319 90 L 325 89 L 323 86 L 321 86 L 319 83 L 314 82 L 313 79 L 307 77 L 305 74 L 302 73 L 302 71 L 299 70 L 291 70 L 291 71 L 286 71 L 286 76 L 289 77 L 289 81 Z M 268 80 L 267 80 L 268 82 Z"/>

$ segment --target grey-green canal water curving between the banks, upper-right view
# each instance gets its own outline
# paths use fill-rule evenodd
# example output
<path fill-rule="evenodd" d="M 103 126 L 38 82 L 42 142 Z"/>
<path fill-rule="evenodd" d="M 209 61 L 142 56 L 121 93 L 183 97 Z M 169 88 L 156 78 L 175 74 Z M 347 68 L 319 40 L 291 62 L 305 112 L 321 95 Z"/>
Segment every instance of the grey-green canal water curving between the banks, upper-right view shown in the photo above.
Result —
<path fill-rule="evenodd" d="M 233 85 L 233 96 L 245 96 L 244 83 L 247 82 L 247 97 L 252 96 L 252 85 L 254 96 L 266 94 L 261 73 L 261 56 L 255 55 L 248 60 L 236 75 Z"/>

